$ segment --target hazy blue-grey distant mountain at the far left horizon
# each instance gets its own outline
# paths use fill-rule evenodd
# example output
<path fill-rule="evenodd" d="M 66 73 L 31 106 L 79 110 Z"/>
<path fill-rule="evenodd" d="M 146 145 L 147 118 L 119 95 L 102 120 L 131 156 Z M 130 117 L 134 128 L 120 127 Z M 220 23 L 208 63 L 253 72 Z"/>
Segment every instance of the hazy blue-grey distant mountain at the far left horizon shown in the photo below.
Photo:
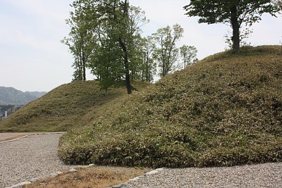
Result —
<path fill-rule="evenodd" d="M 21 92 L 13 87 L 0 87 L 0 104 L 24 105 L 44 94 L 46 92 Z"/>

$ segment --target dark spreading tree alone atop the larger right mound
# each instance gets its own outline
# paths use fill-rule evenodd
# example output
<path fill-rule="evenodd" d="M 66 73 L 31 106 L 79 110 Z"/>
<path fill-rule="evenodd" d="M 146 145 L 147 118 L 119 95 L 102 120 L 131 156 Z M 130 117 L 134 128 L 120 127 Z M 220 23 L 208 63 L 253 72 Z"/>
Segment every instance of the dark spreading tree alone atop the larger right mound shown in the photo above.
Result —
<path fill-rule="evenodd" d="M 191 0 L 184 6 L 186 15 L 199 16 L 199 23 L 229 23 L 233 29 L 232 49 L 240 52 L 240 27 L 261 20 L 263 13 L 275 16 L 277 6 L 272 0 Z"/>

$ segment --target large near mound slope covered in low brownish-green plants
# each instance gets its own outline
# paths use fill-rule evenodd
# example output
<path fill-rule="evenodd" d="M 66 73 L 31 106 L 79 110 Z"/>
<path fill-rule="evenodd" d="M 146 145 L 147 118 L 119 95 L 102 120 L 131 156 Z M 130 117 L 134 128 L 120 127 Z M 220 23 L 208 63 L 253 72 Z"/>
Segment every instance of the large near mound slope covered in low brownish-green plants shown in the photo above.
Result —
<path fill-rule="evenodd" d="M 150 167 L 282 161 L 278 46 L 226 51 L 168 75 L 64 135 L 66 163 Z"/>

